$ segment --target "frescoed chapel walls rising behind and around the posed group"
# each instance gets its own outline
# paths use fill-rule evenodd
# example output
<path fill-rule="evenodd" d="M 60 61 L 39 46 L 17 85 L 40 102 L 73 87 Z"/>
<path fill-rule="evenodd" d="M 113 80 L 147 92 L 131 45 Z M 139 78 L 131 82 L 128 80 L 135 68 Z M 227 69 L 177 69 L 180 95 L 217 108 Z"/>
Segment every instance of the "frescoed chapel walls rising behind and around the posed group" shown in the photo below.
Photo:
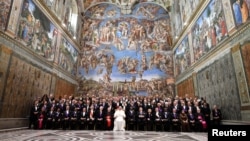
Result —
<path fill-rule="evenodd" d="M 249 0 L 0 7 L 0 129 L 27 127 L 34 99 L 50 94 L 188 96 L 218 105 L 223 124 L 250 124 Z"/>

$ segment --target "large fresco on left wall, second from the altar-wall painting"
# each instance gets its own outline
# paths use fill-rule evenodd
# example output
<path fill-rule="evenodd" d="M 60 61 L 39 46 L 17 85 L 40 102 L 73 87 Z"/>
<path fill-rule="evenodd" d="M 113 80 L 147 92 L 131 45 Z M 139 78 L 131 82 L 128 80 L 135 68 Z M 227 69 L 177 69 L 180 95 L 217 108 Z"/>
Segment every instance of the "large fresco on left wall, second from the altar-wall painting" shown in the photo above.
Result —
<path fill-rule="evenodd" d="M 16 36 L 48 61 L 54 61 L 58 30 L 32 0 L 23 2 Z"/>

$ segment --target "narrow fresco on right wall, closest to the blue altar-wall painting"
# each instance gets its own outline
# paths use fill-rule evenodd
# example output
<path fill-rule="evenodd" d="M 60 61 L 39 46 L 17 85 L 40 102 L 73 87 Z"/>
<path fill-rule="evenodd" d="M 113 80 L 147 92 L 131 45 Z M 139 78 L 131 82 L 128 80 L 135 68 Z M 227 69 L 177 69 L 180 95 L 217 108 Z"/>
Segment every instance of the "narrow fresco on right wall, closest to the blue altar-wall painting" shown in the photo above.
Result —
<path fill-rule="evenodd" d="M 191 65 L 191 52 L 186 36 L 174 52 L 175 75 L 183 73 Z"/>

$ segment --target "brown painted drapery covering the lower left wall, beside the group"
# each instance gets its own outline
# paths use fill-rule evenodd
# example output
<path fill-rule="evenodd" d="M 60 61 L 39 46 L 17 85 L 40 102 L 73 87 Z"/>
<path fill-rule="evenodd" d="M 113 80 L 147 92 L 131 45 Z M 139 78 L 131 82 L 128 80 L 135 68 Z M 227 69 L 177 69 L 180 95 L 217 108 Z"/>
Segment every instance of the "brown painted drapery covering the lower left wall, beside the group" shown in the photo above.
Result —
<path fill-rule="evenodd" d="M 33 100 L 75 93 L 76 86 L 0 46 L 0 118 L 26 118 Z"/>

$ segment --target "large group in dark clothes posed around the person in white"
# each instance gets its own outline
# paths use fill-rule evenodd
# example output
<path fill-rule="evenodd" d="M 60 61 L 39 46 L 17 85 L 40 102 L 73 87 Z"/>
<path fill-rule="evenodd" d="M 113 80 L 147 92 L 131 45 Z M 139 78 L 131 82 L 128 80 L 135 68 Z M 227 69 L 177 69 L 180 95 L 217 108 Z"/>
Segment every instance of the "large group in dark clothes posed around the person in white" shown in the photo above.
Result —
<path fill-rule="evenodd" d="M 203 98 L 154 96 L 44 95 L 30 111 L 29 128 L 63 130 L 113 130 L 114 113 L 122 107 L 126 130 L 204 132 L 220 125 L 220 109 Z"/>

